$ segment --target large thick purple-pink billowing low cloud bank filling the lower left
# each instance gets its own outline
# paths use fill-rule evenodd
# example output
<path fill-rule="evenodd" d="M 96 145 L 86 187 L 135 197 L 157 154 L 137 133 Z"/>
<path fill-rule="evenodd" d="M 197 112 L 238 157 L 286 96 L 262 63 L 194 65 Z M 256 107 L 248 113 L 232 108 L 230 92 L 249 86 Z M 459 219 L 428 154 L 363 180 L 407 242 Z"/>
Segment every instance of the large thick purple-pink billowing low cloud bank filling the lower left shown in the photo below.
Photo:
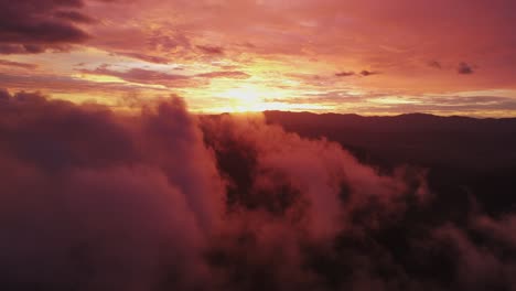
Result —
<path fill-rule="evenodd" d="M 203 285 L 223 181 L 181 100 L 126 120 L 19 93 L 0 111 L 2 289 Z"/>

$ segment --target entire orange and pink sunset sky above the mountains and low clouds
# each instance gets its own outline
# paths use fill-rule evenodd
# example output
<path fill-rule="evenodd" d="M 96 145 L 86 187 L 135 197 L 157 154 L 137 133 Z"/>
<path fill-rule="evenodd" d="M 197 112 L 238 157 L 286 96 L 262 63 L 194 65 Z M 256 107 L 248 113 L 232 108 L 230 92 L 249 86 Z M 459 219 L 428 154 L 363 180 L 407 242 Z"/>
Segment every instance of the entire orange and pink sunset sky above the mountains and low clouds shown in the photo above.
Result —
<path fill-rule="evenodd" d="M 0 88 L 127 109 L 516 115 L 513 0 L 0 0 Z"/>

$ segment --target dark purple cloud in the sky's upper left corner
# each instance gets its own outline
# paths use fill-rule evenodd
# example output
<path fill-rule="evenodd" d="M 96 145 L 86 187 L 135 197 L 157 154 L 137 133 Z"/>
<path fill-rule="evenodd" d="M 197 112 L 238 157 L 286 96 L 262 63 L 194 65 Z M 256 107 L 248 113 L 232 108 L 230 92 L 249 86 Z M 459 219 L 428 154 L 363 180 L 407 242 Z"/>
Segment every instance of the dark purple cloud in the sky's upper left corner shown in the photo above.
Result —
<path fill-rule="evenodd" d="M 89 20 L 76 11 L 80 0 L 0 0 L 0 52 L 40 53 L 88 39 L 74 25 Z"/>

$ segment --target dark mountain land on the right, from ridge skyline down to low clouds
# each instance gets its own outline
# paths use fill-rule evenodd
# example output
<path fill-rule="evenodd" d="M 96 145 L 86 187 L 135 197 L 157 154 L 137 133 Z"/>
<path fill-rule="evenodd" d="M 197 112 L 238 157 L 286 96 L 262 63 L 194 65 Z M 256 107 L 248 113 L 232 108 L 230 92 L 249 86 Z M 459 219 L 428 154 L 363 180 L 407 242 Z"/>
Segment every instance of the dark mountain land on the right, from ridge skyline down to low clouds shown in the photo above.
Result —
<path fill-rule="evenodd" d="M 266 111 L 270 123 L 308 138 L 341 143 L 380 169 L 428 169 L 440 207 L 475 197 L 493 213 L 516 203 L 516 118 L 476 119 L 409 114 L 394 117 Z"/>

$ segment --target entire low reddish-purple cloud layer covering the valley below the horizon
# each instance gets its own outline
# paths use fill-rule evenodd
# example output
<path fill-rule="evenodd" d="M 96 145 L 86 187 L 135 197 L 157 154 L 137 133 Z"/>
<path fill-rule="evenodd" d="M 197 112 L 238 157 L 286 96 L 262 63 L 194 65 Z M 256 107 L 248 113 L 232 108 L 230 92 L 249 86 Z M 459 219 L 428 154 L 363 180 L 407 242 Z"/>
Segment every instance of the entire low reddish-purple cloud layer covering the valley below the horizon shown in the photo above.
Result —
<path fill-rule="evenodd" d="M 0 90 L 0 174 L 2 290 L 516 285 L 514 215 L 436 214 L 421 169 L 179 98 L 125 115 Z"/>

